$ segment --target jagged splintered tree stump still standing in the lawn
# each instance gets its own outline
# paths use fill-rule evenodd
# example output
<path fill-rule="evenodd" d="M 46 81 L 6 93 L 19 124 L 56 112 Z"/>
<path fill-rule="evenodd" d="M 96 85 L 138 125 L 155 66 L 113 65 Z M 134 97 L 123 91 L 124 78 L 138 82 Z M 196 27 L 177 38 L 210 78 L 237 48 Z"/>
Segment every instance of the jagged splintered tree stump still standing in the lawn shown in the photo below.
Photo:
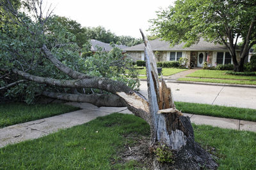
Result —
<path fill-rule="evenodd" d="M 218 164 L 195 142 L 189 117 L 184 117 L 175 108 L 172 91 L 166 86 L 163 78 L 160 85 L 154 53 L 142 31 L 141 35 L 145 45 L 147 67 L 151 146 L 165 145 L 175 153 L 175 165 L 154 161 L 155 169 L 216 169 Z"/>

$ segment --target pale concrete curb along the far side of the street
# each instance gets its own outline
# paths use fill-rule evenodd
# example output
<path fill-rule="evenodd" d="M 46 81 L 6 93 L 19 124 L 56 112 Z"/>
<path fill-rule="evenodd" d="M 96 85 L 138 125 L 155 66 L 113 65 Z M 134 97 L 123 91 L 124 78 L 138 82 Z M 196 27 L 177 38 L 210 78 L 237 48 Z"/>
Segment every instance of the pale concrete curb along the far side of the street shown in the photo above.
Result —
<path fill-rule="evenodd" d="M 256 85 L 239 85 L 239 84 L 227 84 L 227 83 L 205 83 L 197 81 L 177 81 L 171 79 L 164 79 L 167 83 L 183 83 L 183 84 L 195 84 L 195 85 L 216 85 L 216 86 L 226 86 L 226 87 L 249 87 L 256 88 Z M 140 81 L 147 81 L 140 79 Z"/>

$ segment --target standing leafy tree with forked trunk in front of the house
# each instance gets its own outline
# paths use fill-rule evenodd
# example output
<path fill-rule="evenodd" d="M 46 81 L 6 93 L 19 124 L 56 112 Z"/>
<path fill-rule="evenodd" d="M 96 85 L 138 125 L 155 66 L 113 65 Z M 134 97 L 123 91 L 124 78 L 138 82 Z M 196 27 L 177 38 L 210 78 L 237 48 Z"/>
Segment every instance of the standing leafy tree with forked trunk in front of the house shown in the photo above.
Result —
<path fill-rule="evenodd" d="M 234 71 L 243 71 L 244 59 L 256 43 L 255 0 L 177 0 L 158 11 L 150 30 L 172 45 L 190 46 L 200 37 L 227 46 Z M 239 56 L 237 40 L 243 39 Z M 237 57 L 239 60 L 237 60 Z"/>

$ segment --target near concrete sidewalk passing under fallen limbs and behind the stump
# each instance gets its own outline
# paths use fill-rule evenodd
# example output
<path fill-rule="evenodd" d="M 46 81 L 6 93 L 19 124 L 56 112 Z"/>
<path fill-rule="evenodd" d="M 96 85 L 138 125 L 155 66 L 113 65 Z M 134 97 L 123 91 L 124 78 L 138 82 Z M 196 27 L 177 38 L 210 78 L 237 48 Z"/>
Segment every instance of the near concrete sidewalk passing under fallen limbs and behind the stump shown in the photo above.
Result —
<path fill-rule="evenodd" d="M 46 136 L 60 129 L 66 129 L 75 125 L 81 125 L 97 117 L 103 117 L 113 112 L 132 114 L 127 108 L 109 108 L 94 106 L 89 103 L 67 103 L 68 105 L 77 106 L 81 110 L 57 115 L 49 118 L 42 118 L 23 124 L 11 125 L 0 129 L 0 148 L 8 144 L 19 143 L 28 139 L 36 139 Z M 234 120 L 229 118 L 207 117 L 202 115 L 191 115 L 184 113 L 190 117 L 192 123 L 201 125 L 212 125 L 228 129 L 236 129 L 237 131 L 253 131 L 256 132 L 256 122 L 244 120 Z"/>

